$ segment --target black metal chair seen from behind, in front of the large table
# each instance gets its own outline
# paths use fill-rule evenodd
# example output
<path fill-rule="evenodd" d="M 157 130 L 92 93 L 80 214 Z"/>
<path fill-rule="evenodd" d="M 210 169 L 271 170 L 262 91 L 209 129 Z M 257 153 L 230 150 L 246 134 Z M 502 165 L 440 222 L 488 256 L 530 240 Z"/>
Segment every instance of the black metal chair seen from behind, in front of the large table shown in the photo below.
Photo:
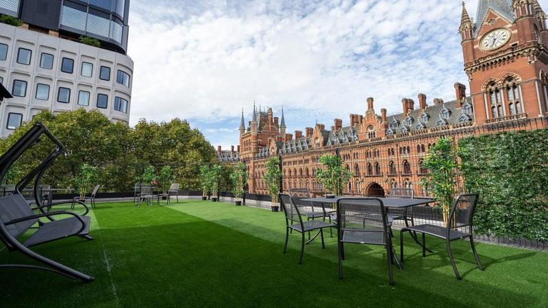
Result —
<path fill-rule="evenodd" d="M 337 202 L 337 224 L 339 278 L 343 279 L 345 243 L 379 245 L 386 248 L 388 279 L 393 285 L 395 253 L 390 222 L 382 201 L 378 198 L 340 198 Z"/>

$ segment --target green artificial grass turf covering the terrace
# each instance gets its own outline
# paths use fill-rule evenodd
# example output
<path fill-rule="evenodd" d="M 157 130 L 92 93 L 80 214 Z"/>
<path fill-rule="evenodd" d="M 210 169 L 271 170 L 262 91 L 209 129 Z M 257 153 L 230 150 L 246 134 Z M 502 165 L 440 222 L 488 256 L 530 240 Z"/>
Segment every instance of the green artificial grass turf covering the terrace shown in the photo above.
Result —
<path fill-rule="evenodd" d="M 100 203 L 88 242 L 69 238 L 37 246 L 38 253 L 92 274 L 75 282 L 36 270 L 0 269 L 7 306 L 315 306 L 546 307 L 548 253 L 477 244 L 485 267 L 475 268 L 468 242 L 455 243 L 457 281 L 445 242 L 427 238 L 434 254 L 421 257 L 406 235 L 404 270 L 388 285 L 382 248 L 347 245 L 340 281 L 336 241 L 306 246 L 299 235 L 282 254 L 284 218 L 264 209 L 209 201 L 169 207 Z M 328 234 L 328 232 L 327 232 Z M 398 236 L 396 236 L 398 238 Z M 398 244 L 396 240 L 396 244 Z M 32 263 L 0 253 L 0 264 Z"/>

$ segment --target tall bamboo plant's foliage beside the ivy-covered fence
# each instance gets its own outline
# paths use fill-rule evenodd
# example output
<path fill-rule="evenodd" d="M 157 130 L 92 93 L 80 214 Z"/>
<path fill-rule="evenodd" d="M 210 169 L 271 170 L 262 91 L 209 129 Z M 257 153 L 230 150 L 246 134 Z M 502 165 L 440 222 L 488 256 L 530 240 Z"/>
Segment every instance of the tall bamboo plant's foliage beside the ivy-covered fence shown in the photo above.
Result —
<path fill-rule="evenodd" d="M 457 153 L 453 140 L 440 138 L 428 150 L 424 165 L 429 170 L 427 177 L 421 179 L 421 185 L 427 185 L 445 216 L 455 201 L 458 179 Z"/>

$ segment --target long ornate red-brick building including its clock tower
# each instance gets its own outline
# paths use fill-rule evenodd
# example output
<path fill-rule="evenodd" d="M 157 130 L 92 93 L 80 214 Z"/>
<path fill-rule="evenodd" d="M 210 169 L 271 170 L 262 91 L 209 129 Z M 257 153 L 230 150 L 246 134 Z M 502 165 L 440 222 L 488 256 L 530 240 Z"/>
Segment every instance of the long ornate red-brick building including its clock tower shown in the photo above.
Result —
<path fill-rule="evenodd" d="M 338 154 L 353 178 L 346 193 L 384 195 L 392 188 L 414 188 L 427 194 L 419 181 L 427 174 L 423 159 L 441 136 L 458 140 L 481 133 L 514 129 L 548 128 L 548 28 L 546 14 L 537 0 L 479 0 L 475 23 L 464 5 L 459 33 L 462 36 L 466 86 L 454 84 L 453 101 L 425 94 L 401 100 L 401 113 L 377 113 L 373 98 L 364 114 L 350 114 L 349 123 L 334 119 L 326 129 L 317 123 L 305 131 L 286 133 L 271 108 L 256 110 L 248 125 L 242 114 L 237 153 L 219 149 L 221 159 L 240 159 L 249 169 L 249 192 L 267 194 L 262 181 L 264 163 L 271 155 L 282 159 L 283 190 L 308 188 L 323 194 L 316 180 L 323 154 Z M 226 152 L 226 153 L 225 153 Z M 224 156 L 223 156 L 224 155 Z"/>

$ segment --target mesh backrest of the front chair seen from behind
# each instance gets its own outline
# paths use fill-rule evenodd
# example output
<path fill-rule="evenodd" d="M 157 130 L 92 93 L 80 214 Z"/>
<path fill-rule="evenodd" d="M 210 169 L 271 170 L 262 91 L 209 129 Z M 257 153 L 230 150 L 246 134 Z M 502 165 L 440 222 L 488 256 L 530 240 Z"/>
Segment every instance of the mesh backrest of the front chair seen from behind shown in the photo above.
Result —
<path fill-rule="evenodd" d="M 388 234 L 388 218 L 378 198 L 340 198 L 337 221 L 341 230 L 384 232 Z"/>

